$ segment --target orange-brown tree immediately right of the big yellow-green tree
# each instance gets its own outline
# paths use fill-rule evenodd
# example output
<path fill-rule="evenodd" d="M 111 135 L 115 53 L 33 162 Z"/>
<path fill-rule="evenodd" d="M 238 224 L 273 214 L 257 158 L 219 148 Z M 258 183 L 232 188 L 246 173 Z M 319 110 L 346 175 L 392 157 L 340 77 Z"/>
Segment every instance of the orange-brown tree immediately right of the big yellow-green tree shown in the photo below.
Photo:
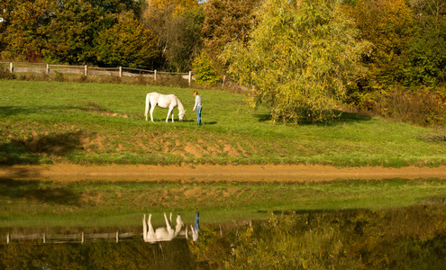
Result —
<path fill-rule="evenodd" d="M 405 0 L 357 0 L 346 11 L 361 31 L 361 39 L 373 44 L 363 62 L 369 66 L 364 88 L 382 90 L 403 78 L 408 40 L 414 34 L 414 13 Z"/>

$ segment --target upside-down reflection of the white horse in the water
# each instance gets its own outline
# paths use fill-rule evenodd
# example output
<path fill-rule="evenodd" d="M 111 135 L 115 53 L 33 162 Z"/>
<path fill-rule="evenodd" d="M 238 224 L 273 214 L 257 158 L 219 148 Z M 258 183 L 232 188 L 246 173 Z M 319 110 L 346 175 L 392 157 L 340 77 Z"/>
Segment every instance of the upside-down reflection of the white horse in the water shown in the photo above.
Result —
<path fill-rule="evenodd" d="M 166 220 L 166 228 L 161 227 L 155 230 L 153 229 L 153 226 L 151 226 L 151 214 L 149 215 L 147 223 L 146 215 L 144 214 L 144 218 L 142 219 L 142 238 L 144 238 L 144 242 L 156 243 L 159 241 L 170 241 L 178 235 L 181 227 L 184 225 L 181 215 L 177 215 L 177 226 L 175 226 L 175 230 L 172 229 L 172 226 L 170 225 L 172 213 L 170 213 L 170 221 L 168 220 L 166 213 L 164 213 L 164 219 Z M 147 227 L 149 227 L 149 229 Z"/>

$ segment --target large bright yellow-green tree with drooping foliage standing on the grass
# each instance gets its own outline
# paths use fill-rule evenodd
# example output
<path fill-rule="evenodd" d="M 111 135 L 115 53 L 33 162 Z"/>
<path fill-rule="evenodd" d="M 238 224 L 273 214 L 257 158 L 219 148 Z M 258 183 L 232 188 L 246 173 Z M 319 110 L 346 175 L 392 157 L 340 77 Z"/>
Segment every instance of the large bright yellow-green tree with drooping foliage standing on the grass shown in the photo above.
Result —
<path fill-rule="evenodd" d="M 266 0 L 258 16 L 247 45 L 223 52 L 229 72 L 253 86 L 253 102 L 268 105 L 274 121 L 333 117 L 368 49 L 339 2 Z"/>

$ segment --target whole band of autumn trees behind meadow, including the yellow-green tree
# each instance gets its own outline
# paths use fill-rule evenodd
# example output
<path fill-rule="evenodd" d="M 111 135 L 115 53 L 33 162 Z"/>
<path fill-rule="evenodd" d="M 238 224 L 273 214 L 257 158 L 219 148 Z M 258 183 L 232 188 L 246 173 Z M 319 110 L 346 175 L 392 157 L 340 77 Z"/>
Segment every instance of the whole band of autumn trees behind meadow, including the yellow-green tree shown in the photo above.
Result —
<path fill-rule="evenodd" d="M 444 124 L 446 0 L 4 0 L 0 56 L 231 76 L 275 121 Z"/>

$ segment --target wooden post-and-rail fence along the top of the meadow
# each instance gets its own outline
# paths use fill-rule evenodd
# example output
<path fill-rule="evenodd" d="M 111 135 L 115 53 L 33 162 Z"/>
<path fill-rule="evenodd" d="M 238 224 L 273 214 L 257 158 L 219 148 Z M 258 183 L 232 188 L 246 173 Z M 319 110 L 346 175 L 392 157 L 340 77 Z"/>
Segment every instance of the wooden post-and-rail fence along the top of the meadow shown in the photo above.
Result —
<path fill-rule="evenodd" d="M 183 79 L 187 79 L 189 85 L 192 80 L 195 80 L 192 76 L 192 71 L 188 73 L 176 73 L 176 72 L 162 72 L 157 70 L 146 70 L 141 68 L 131 67 L 88 67 L 85 66 L 68 66 L 68 65 L 50 65 L 50 64 L 34 64 L 34 63 L 14 63 L 14 62 L 0 62 L 0 67 L 3 67 L 11 73 L 42 73 L 42 74 L 81 74 L 84 76 L 89 75 L 105 75 L 105 76 L 142 76 L 151 77 L 153 80 L 157 80 L 162 76 L 181 76 Z"/>

